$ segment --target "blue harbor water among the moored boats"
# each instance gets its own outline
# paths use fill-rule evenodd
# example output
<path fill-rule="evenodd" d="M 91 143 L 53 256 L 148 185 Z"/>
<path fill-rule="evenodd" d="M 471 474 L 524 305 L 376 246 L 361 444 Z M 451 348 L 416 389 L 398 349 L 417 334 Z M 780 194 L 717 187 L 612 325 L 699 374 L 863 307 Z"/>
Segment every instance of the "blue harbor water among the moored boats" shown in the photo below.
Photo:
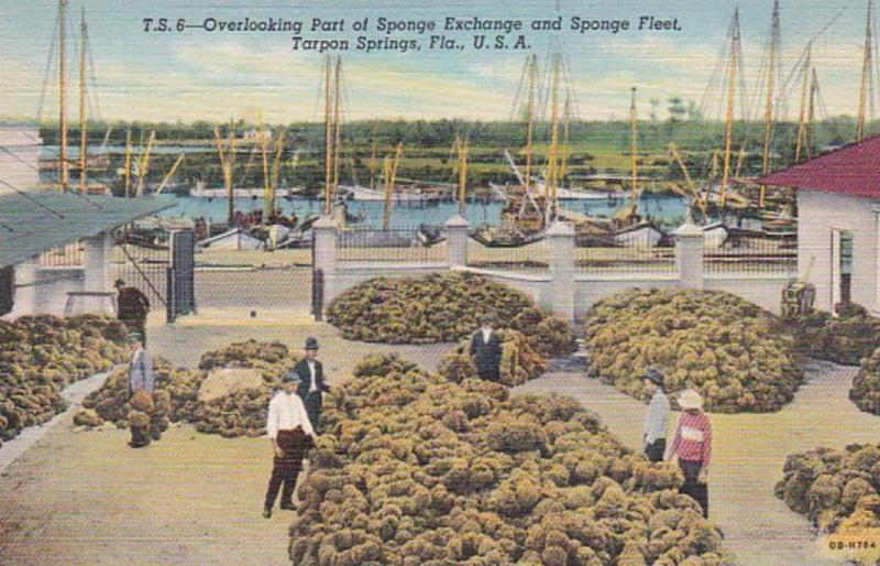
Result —
<path fill-rule="evenodd" d="M 575 213 L 585 213 L 595 216 L 612 216 L 617 209 L 627 204 L 628 199 L 609 202 L 600 200 L 560 200 L 563 208 Z M 228 203 L 224 198 L 194 198 L 188 196 L 177 197 L 177 206 L 161 214 L 166 218 L 186 216 L 189 218 L 210 218 L 211 221 L 226 221 Z M 294 197 L 293 200 L 279 198 L 276 206 L 286 216 L 296 211 L 302 219 L 310 214 L 321 214 L 323 202 L 317 198 Z M 242 213 L 262 210 L 262 198 L 237 198 L 235 209 Z M 350 202 L 349 214 L 356 215 L 361 210 L 365 216 L 359 226 L 381 228 L 383 224 L 384 204 L 381 200 Z M 391 224 L 393 228 L 415 228 L 421 224 L 442 225 L 453 215 L 458 214 L 457 203 L 439 203 L 435 205 L 395 204 L 392 209 Z M 501 203 L 469 203 L 465 217 L 471 225 L 491 224 L 501 221 Z M 642 195 L 639 199 L 639 213 L 651 218 L 666 228 L 675 228 L 684 221 L 686 206 L 684 200 L 676 195 Z"/>

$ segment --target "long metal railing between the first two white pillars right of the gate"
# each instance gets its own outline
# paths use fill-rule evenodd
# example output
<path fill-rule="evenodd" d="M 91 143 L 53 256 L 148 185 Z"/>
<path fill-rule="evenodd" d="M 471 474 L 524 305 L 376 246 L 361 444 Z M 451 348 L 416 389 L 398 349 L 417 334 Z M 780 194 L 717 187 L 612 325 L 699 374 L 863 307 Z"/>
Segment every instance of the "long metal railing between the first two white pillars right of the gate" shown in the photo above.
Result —
<path fill-rule="evenodd" d="M 446 240 L 429 243 L 418 228 L 355 228 L 337 233 L 337 261 L 437 263 L 447 261 Z"/>

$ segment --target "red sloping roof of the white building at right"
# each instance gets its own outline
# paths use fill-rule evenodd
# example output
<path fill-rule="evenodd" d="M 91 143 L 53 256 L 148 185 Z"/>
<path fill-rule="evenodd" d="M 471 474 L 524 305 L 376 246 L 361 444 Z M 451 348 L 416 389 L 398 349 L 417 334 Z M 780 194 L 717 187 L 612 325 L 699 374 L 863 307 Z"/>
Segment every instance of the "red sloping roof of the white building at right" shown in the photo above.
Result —
<path fill-rule="evenodd" d="M 880 198 L 880 135 L 758 179 L 762 185 Z"/>

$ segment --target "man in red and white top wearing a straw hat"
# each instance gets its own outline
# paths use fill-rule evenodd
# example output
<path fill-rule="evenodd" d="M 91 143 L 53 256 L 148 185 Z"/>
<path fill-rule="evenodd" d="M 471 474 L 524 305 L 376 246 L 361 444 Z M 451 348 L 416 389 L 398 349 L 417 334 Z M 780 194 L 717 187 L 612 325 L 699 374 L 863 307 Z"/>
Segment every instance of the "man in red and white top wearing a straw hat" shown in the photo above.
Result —
<path fill-rule="evenodd" d="M 703 398 L 692 389 L 679 394 L 682 414 L 667 459 L 679 462 L 684 472 L 680 493 L 691 496 L 708 516 L 708 462 L 712 456 L 712 423 L 703 412 Z"/>

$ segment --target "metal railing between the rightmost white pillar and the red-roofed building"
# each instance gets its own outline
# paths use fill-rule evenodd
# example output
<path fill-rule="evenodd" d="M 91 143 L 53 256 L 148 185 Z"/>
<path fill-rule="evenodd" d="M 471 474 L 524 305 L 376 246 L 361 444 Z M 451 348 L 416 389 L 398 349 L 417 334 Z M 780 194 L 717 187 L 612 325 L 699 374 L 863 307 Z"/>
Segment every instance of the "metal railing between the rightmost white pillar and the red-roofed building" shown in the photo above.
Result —
<path fill-rule="evenodd" d="M 706 273 L 790 274 L 798 270 L 798 240 L 790 237 L 728 237 L 703 248 Z"/>

